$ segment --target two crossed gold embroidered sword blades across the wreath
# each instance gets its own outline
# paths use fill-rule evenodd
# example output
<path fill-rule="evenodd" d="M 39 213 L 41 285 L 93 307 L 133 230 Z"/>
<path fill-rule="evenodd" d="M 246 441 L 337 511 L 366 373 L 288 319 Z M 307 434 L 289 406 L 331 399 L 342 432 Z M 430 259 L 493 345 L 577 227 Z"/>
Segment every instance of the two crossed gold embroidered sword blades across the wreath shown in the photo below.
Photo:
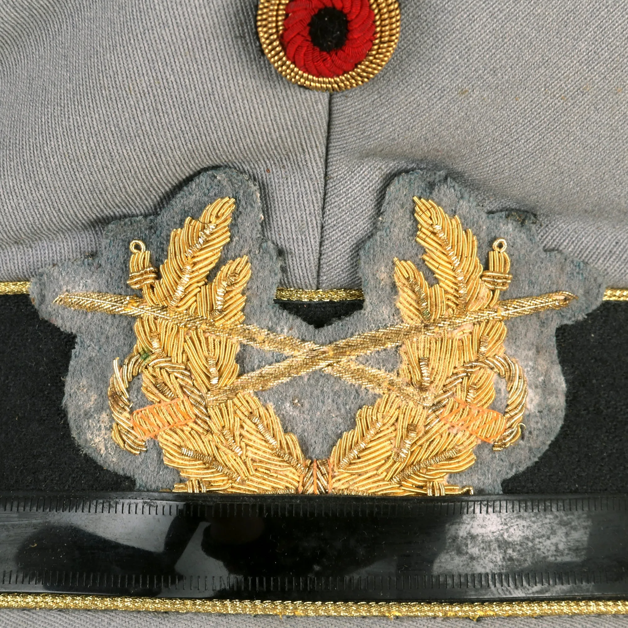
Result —
<path fill-rule="evenodd" d="M 181 327 L 200 328 L 208 335 L 225 340 L 234 340 L 263 350 L 272 350 L 292 355 L 286 360 L 275 362 L 238 377 L 219 392 L 210 391 L 212 403 L 222 403 L 243 391 L 268 390 L 278 384 L 313 371 L 327 371 L 348 381 L 369 387 L 381 394 L 394 391 L 404 398 L 430 405 L 428 394 L 416 391 L 399 381 L 394 374 L 352 362 L 360 355 L 367 355 L 382 349 L 391 349 L 405 340 L 418 335 L 442 335 L 449 330 L 468 325 L 495 320 L 504 321 L 538 311 L 563 308 L 575 298 L 571 293 L 558 291 L 548 295 L 528 296 L 520 299 L 499 301 L 499 306 L 491 310 L 470 311 L 461 317 L 444 318 L 435 323 L 401 323 L 372 332 L 364 332 L 351 338 L 343 338 L 329 345 L 303 342 L 298 338 L 283 336 L 261 329 L 254 325 L 223 326 L 210 318 L 197 317 L 186 313 L 173 312 L 165 306 L 147 305 L 134 296 L 109 295 L 107 293 L 66 293 L 55 299 L 57 305 L 107 314 L 122 314 L 133 317 L 155 317 L 168 320 Z M 346 362 L 345 360 L 349 360 Z"/>

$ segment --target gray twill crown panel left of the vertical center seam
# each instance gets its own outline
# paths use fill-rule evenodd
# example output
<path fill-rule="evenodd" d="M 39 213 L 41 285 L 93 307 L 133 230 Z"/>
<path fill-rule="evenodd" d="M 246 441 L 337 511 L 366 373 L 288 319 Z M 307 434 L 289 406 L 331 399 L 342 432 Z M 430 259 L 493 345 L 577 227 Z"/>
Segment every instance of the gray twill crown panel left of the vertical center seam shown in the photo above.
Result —
<path fill-rule="evenodd" d="M 278 75 L 255 20 L 251 0 L 0 3 L 0 280 L 229 165 L 273 208 L 288 282 L 316 287 L 328 96 Z"/>

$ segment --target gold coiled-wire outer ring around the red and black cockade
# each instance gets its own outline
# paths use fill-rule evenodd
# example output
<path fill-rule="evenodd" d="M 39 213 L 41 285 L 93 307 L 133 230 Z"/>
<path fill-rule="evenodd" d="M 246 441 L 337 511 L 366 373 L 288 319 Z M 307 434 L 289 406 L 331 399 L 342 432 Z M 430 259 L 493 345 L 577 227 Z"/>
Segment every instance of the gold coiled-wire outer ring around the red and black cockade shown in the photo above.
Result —
<path fill-rule="evenodd" d="M 401 14 L 398 0 L 369 0 L 374 12 L 376 35 L 371 50 L 353 70 L 337 77 L 316 77 L 291 62 L 281 45 L 281 33 L 290 0 L 260 0 L 257 33 L 264 54 L 275 69 L 289 81 L 321 92 L 340 92 L 362 85 L 386 65 L 399 41 Z"/>

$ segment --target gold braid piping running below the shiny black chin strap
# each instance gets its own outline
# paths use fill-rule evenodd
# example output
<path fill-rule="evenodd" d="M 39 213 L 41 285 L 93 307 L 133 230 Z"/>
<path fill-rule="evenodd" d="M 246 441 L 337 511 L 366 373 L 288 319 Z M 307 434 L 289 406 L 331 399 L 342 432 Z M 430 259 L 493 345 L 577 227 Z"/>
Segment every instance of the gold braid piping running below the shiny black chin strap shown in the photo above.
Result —
<path fill-rule="evenodd" d="M 623 615 L 626 600 L 553 602 L 261 602 L 259 600 L 183 600 L 55 593 L 2 593 L 0 609 L 146 610 L 229 615 L 301 617 L 539 617 L 541 615 Z"/>

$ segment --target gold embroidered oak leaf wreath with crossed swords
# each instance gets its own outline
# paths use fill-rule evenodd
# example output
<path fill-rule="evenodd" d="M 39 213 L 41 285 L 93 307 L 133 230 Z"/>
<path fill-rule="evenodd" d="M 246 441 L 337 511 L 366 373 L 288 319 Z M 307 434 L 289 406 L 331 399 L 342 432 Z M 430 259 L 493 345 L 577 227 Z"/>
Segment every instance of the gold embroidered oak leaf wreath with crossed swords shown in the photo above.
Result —
<path fill-rule="evenodd" d="M 501 300 L 511 281 L 506 242 L 489 251 L 488 269 L 477 241 L 458 217 L 414 198 L 416 241 L 438 283 L 430 285 L 411 261 L 394 260 L 403 323 L 321 346 L 244 324 L 243 292 L 249 259 L 227 261 L 208 274 L 229 242 L 236 203 L 219 198 L 198 220 L 188 217 L 170 237 L 158 271 L 139 240 L 131 242 L 128 284 L 141 297 L 70 293 L 56 303 L 136 317 L 137 343 L 109 385 L 112 437 L 139 454 L 154 438 L 164 462 L 187 479 L 176 491 L 445 495 L 471 492 L 448 476 L 470 467 L 474 448 L 495 450 L 521 435 L 528 394 L 516 360 L 504 352 L 508 318 L 562 308 L 568 292 Z M 239 374 L 240 344 L 288 357 Z M 360 355 L 401 346 L 398 372 L 356 362 Z M 285 433 L 256 392 L 321 370 L 381 394 L 361 408 L 355 428 L 329 457 L 309 460 L 296 436 Z M 133 410 L 129 384 L 142 376 L 151 401 Z M 494 380 L 506 382 L 504 413 L 490 406 Z"/>

